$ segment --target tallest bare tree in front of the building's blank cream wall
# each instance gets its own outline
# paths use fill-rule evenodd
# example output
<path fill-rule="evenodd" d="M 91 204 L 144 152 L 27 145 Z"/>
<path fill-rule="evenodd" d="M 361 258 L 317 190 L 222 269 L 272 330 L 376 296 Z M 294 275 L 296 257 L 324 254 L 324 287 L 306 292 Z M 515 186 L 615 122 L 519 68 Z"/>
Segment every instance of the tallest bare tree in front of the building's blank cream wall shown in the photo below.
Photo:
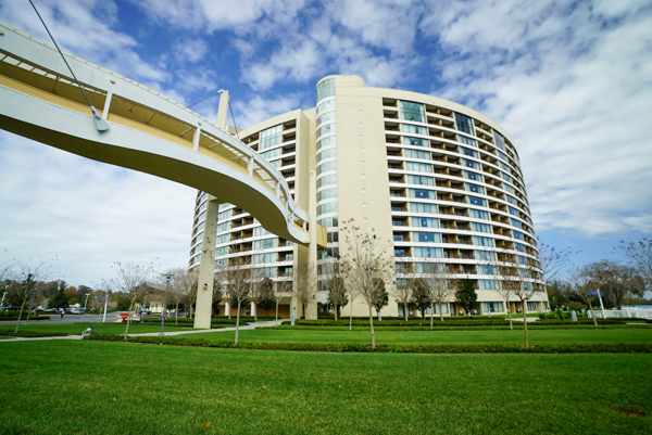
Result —
<path fill-rule="evenodd" d="M 355 226 L 354 219 L 344 221 L 341 232 L 347 241 L 347 252 L 343 255 L 349 265 L 349 285 L 356 289 L 360 297 L 367 304 L 369 327 L 372 330 L 372 348 L 376 347 L 374 333 L 374 317 L 372 307 L 379 287 L 385 285 L 393 272 L 393 257 L 388 254 L 390 241 L 381 241 L 372 229 L 364 233 Z"/>

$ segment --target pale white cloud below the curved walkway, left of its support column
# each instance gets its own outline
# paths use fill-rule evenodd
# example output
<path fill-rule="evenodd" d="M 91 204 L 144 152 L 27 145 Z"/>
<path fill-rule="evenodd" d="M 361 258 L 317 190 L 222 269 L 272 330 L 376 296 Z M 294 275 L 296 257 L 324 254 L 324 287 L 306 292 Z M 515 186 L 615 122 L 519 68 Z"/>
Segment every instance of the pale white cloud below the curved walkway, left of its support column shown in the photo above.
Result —
<path fill-rule="evenodd" d="M 57 255 L 52 278 L 75 285 L 117 259 L 187 265 L 193 189 L 5 132 L 0 153 L 0 256 Z"/>

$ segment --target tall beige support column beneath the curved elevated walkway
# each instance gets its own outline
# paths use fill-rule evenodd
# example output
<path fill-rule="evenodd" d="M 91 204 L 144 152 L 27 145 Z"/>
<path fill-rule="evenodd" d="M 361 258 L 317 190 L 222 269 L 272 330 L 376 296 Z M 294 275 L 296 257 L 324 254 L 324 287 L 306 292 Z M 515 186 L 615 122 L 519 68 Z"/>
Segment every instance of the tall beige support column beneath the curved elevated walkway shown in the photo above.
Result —
<path fill-rule="evenodd" d="M 215 279 L 215 234 L 217 230 L 217 199 L 209 195 L 206 218 L 201 242 L 201 259 L 197 282 L 195 328 L 210 329 L 213 314 L 213 282 Z"/>

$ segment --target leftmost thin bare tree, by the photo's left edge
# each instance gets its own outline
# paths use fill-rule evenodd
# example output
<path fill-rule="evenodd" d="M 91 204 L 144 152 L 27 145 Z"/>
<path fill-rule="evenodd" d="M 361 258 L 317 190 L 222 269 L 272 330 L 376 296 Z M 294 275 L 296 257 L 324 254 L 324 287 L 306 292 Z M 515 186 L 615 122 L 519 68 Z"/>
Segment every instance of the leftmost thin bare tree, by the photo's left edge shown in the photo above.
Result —
<path fill-rule="evenodd" d="M 50 273 L 50 263 L 52 261 L 57 261 L 57 257 L 43 260 L 40 257 L 35 259 L 23 259 L 12 255 L 12 260 L 3 265 L 4 273 L 14 281 L 9 287 L 9 291 L 15 298 L 21 300 L 21 310 L 18 311 L 18 320 L 16 321 L 16 329 L 14 332 L 18 332 L 23 309 L 25 308 L 27 299 L 30 296 L 35 296 L 36 283 L 46 281 Z"/>

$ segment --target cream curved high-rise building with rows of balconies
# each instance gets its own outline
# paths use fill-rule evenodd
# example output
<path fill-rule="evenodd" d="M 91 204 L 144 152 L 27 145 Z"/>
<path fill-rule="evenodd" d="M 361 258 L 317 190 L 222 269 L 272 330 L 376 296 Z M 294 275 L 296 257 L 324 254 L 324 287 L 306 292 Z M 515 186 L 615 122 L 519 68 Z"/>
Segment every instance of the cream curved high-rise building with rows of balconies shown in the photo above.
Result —
<path fill-rule="evenodd" d="M 311 253 L 221 204 L 216 267 L 246 256 L 277 285 L 313 259 L 322 273 L 346 248 L 339 222 L 353 218 L 393 241 L 396 285 L 442 264 L 451 280 L 474 282 L 480 312 L 505 312 L 497 265 L 511 263 L 535 290 L 528 311 L 548 307 L 518 153 L 485 115 L 428 94 L 366 87 L 359 76 L 327 76 L 317 82 L 315 107 L 266 119 L 238 137 L 280 171 L 311 222 L 327 229 L 327 243 Z M 190 267 L 199 265 L 205 201 L 199 192 Z M 325 302 L 317 285 L 317 300 Z M 280 314 L 294 305 L 288 294 Z M 521 308 L 510 305 L 512 312 Z M 361 303 L 353 308 L 367 312 Z M 459 314 L 460 307 L 451 298 L 442 310 Z M 403 307 L 390 297 L 384 312 L 402 315 Z"/>

